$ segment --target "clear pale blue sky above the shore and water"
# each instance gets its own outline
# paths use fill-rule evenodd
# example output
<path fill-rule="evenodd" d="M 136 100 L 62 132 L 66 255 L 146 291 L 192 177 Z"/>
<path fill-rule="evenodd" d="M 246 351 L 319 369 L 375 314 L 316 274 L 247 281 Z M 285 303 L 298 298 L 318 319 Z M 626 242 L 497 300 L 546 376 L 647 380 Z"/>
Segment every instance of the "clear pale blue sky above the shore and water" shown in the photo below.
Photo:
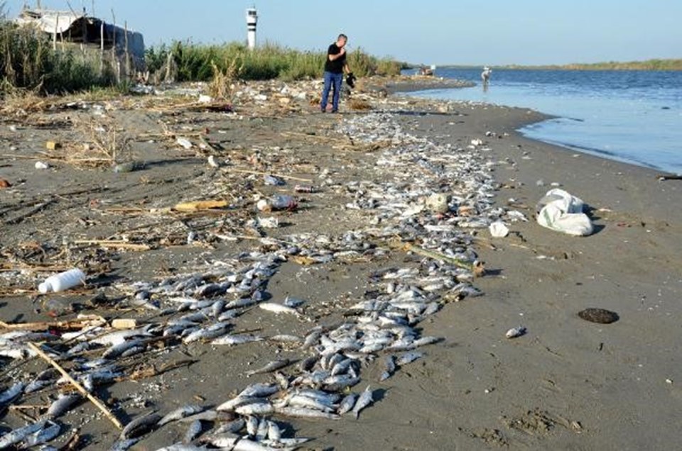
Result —
<path fill-rule="evenodd" d="M 90 12 L 92 0 L 70 0 Z M 25 2 L 6 0 L 10 16 Z M 33 6 L 36 0 L 27 0 Z M 43 7 L 67 9 L 65 0 Z M 94 13 L 158 45 L 246 39 L 256 6 L 258 42 L 350 50 L 423 64 L 507 65 L 682 58 L 681 0 L 94 0 Z"/>

